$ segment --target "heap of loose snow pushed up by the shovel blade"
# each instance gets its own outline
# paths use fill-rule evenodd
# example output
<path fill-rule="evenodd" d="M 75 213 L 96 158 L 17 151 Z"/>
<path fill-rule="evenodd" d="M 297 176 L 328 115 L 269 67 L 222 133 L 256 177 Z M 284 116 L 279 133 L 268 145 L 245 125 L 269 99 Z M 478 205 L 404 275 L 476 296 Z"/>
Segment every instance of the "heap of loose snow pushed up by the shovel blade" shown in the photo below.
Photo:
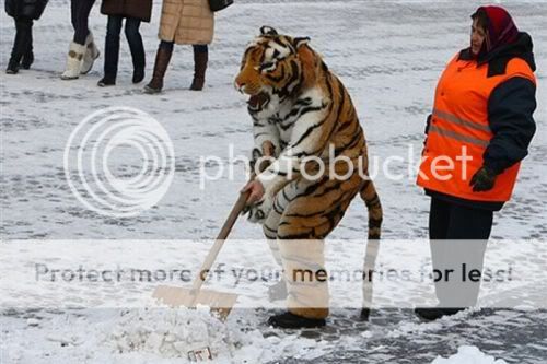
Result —
<path fill-rule="evenodd" d="M 190 352 L 209 349 L 213 362 L 268 362 L 283 354 L 314 359 L 325 353 L 326 342 L 288 337 L 268 337 L 247 322 L 232 316 L 221 321 L 209 307 L 197 309 L 128 309 L 102 329 L 103 344 L 112 348 L 118 361 L 135 355 L 165 363 L 185 363 Z M 140 357 L 140 356 L 139 356 Z M 147 361 L 143 361 L 147 362 Z"/>

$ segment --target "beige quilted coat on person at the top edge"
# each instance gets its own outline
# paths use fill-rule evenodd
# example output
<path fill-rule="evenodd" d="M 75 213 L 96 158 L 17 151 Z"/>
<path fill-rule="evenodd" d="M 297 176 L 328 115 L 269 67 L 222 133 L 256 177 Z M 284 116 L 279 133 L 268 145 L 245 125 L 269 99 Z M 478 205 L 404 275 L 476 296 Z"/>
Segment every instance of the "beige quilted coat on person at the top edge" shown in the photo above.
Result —
<path fill-rule="evenodd" d="M 176 44 L 210 44 L 214 16 L 209 0 L 163 0 L 160 39 Z"/>

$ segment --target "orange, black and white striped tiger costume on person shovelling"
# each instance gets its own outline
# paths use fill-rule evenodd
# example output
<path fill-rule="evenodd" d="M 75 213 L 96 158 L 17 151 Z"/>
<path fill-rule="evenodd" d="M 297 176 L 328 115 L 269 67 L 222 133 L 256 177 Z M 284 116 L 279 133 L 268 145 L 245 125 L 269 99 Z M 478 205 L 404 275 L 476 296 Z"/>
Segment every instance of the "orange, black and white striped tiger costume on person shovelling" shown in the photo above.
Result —
<path fill-rule="evenodd" d="M 369 211 L 364 271 L 371 271 L 382 207 L 374 184 L 368 178 L 366 142 L 353 103 L 309 40 L 279 35 L 263 26 L 244 52 L 235 86 L 249 95 L 253 161 L 263 156 L 274 160 L 256 175 L 265 193 L 251 207 L 249 220 L 263 224 L 272 254 L 283 267 L 288 315 L 322 326 L 328 316 L 328 285 L 294 282 L 289 272 L 324 267 L 322 242 L 340 222 L 357 193 Z M 349 163 L 329 163 L 333 156 Z M 313 161 L 302 163 L 311 157 L 321 158 L 325 168 L 322 171 Z M 330 178 L 331 171 L 347 176 Z M 372 291 L 371 286 L 364 290 L 362 316 L 368 316 Z M 276 321 L 272 317 L 270 324 L 283 326 L 282 319 L 278 317 Z"/>

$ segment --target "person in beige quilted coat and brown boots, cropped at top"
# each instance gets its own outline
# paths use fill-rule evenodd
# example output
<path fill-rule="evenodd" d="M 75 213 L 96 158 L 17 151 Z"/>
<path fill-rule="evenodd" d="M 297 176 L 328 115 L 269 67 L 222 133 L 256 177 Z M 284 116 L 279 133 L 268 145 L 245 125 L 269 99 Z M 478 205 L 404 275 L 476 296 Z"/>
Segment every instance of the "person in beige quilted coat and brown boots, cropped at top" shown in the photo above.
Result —
<path fill-rule="evenodd" d="M 149 94 L 160 93 L 174 45 L 194 48 L 194 80 L 190 90 L 201 91 L 205 84 L 208 46 L 214 34 L 214 15 L 208 0 L 164 0 L 160 22 L 160 46 L 152 80 L 144 87 Z"/>

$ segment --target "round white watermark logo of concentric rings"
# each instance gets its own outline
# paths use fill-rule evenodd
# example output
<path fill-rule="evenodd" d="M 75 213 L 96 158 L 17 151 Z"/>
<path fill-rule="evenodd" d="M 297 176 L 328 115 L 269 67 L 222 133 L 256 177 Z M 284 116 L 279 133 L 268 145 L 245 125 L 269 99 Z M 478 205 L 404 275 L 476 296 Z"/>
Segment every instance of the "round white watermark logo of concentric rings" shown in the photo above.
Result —
<path fill-rule="evenodd" d="M 175 173 L 175 152 L 165 129 L 130 107 L 110 107 L 83 119 L 70 134 L 63 162 L 78 200 L 116 218 L 135 216 L 156 204 Z"/>

